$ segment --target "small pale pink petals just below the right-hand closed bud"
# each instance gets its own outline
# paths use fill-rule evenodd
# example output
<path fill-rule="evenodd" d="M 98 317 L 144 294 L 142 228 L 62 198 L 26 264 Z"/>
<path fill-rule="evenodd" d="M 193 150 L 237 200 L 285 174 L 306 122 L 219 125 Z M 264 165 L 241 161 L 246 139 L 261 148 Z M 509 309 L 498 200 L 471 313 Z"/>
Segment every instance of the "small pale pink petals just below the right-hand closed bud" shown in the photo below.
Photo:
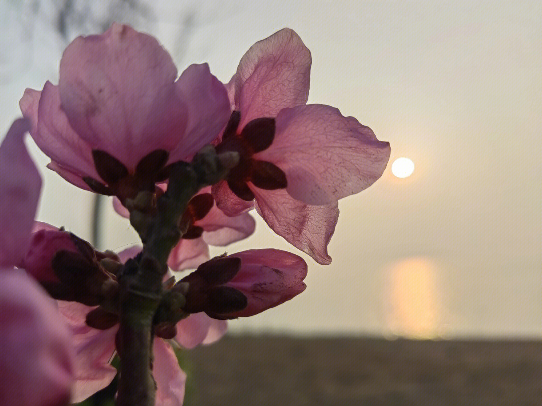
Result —
<path fill-rule="evenodd" d="M 215 320 L 204 312 L 194 313 L 177 323 L 175 341 L 186 349 L 192 349 L 199 344 L 211 344 L 226 333 L 228 323 L 225 320 Z"/>

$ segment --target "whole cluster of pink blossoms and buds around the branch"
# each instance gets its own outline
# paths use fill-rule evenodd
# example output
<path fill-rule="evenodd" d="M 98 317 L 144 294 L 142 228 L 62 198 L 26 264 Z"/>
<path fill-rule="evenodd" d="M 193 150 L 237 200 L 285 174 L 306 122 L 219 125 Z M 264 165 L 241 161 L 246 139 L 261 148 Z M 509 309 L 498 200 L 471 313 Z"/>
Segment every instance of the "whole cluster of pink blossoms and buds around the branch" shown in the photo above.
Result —
<path fill-rule="evenodd" d="M 38 351 L 47 356 L 24 377 L 2 369 L 2 404 L 80 402 L 111 383 L 111 361 L 123 356 L 122 280 L 143 266 L 164 199 L 182 188 L 172 174 L 183 165 L 199 168 L 212 155 L 221 175 L 200 181 L 175 218 L 178 235 L 152 317 L 156 405 L 183 401 L 186 377 L 173 347 L 215 342 L 227 319 L 305 290 L 307 264 L 294 253 L 264 248 L 210 258 L 209 245 L 254 232 L 251 209 L 318 263 L 331 262 L 338 200 L 380 178 L 390 146 L 338 109 L 307 104 L 311 63 L 300 37 L 282 29 L 255 43 L 228 83 L 206 63 L 178 76 L 156 39 L 115 23 L 68 45 L 57 85 L 25 90 L 24 119 L 0 147 L 0 303 L 15 309 L 1 322 L 13 333 L 0 343 L 25 354 L 21 369 Z M 49 169 L 113 197 L 143 246 L 101 252 L 63 227 L 34 222 L 41 181 L 22 142 L 27 130 Z M 30 330 L 39 339 L 5 342 Z"/>

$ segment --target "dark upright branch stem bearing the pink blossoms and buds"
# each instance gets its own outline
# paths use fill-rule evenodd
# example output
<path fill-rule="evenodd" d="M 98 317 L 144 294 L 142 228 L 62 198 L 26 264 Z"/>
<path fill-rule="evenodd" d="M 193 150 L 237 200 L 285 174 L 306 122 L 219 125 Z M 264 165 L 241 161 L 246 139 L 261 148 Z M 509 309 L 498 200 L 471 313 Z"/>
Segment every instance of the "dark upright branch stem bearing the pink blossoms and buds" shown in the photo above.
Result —
<path fill-rule="evenodd" d="M 167 191 L 157 202 L 156 214 L 149 219 L 146 230 L 138 230 L 144 237 L 143 250 L 139 260 L 126 263 L 120 277 L 118 406 L 154 405 L 152 320 L 163 294 L 167 257 L 186 231 L 179 229 L 179 220 L 193 195 L 202 187 L 224 179 L 238 159 L 236 153 L 216 155 L 215 149 L 208 146 L 191 164 L 173 164 Z"/>

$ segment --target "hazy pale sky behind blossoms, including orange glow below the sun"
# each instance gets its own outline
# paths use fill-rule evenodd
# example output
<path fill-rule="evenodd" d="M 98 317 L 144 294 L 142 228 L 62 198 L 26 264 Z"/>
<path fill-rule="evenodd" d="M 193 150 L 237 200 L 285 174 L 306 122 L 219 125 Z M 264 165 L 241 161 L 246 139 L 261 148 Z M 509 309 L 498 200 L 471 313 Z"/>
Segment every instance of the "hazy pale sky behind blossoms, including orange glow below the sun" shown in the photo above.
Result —
<path fill-rule="evenodd" d="M 0 1 L 8 11 L 2 134 L 24 88 L 57 81 L 66 43 L 50 4 L 38 3 L 34 17 L 22 17 L 27 5 Z M 151 9 L 156 19 L 135 28 L 157 36 L 179 71 L 208 62 L 224 82 L 251 44 L 294 29 L 312 53 L 309 103 L 337 107 L 391 143 L 382 179 L 339 203 L 331 265 L 255 214 L 255 234 L 227 251 L 300 254 L 308 287 L 231 322 L 233 333 L 542 336 L 541 2 L 155 1 Z M 28 141 L 44 178 L 38 219 L 89 238 L 91 194 L 44 169 L 48 159 Z M 400 157 L 415 166 L 405 179 L 391 173 Z M 106 206 L 101 248 L 137 242 Z"/>

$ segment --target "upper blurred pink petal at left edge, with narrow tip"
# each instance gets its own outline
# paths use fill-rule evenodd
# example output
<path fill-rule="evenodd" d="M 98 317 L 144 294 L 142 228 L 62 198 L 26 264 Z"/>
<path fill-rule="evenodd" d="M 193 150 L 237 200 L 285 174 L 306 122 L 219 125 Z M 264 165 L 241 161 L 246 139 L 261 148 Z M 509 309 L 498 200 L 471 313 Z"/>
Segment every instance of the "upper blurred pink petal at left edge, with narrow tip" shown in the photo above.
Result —
<path fill-rule="evenodd" d="M 41 178 L 24 146 L 27 120 L 16 120 L 0 145 L 0 266 L 18 264 L 27 250 Z"/>

